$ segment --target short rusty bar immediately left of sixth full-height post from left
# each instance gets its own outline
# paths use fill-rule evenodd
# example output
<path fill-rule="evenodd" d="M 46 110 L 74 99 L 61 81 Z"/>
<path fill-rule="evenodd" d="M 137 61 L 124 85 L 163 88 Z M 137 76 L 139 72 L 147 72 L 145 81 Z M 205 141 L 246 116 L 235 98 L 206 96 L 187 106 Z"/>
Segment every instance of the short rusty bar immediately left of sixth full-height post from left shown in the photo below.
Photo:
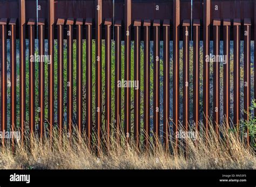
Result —
<path fill-rule="evenodd" d="M 199 131 L 200 121 L 200 19 L 193 20 L 193 120 Z"/>

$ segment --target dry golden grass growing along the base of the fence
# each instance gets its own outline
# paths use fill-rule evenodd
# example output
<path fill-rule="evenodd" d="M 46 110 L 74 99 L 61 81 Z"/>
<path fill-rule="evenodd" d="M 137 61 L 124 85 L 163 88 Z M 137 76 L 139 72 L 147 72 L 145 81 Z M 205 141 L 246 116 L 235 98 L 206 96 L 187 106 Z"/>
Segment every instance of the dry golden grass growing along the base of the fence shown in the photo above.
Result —
<path fill-rule="evenodd" d="M 158 144 L 150 146 L 149 151 L 138 150 L 131 141 L 129 145 L 122 138 L 121 143 L 113 136 L 111 146 L 104 148 L 87 147 L 85 138 L 73 138 L 72 142 L 64 136 L 59 141 L 53 133 L 52 146 L 49 139 L 43 141 L 26 139 L 25 145 L 17 143 L 15 153 L 7 144 L 0 153 L 1 169 L 252 169 L 256 166 L 253 150 L 244 146 L 234 133 L 221 129 L 223 138 L 218 139 L 210 128 L 206 140 L 199 133 L 196 141 L 186 139 L 187 158 L 183 153 L 166 153 Z M 73 137 L 73 136 L 72 136 Z M 103 140 L 103 143 L 106 142 Z M 170 147 L 173 146 L 171 143 Z M 104 150 L 102 150 L 104 149 Z M 99 153 L 97 154 L 97 151 Z M 170 149 L 172 150 L 172 148 Z M 181 150 L 181 148 L 179 149 Z"/>

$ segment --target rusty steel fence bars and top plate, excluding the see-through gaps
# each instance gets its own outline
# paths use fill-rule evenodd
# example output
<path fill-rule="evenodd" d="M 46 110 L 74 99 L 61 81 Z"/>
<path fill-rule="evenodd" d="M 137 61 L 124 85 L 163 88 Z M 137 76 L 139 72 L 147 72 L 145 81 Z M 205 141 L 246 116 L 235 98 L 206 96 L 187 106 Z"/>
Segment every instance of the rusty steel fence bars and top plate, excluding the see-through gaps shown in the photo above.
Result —
<path fill-rule="evenodd" d="M 38 3 L 38 4 L 37 4 Z M 220 125 L 220 107 L 223 107 L 226 117 L 225 125 L 231 123 L 239 125 L 240 119 L 249 120 L 251 92 L 256 98 L 255 61 L 254 71 L 251 62 L 251 40 L 256 34 L 256 1 L 253 0 L 86 0 L 86 1 L 54 1 L 54 0 L 10 0 L 0 1 L 1 27 L 1 131 L 7 130 L 7 104 L 10 99 L 10 129 L 17 128 L 17 84 L 19 84 L 19 128 L 24 139 L 24 132 L 29 128 L 35 132 L 35 92 L 38 91 L 39 121 L 38 133 L 42 137 L 45 131 L 44 121 L 47 119 L 49 137 L 52 138 L 53 126 L 57 124 L 59 134 L 64 126 L 64 103 L 67 103 L 66 124 L 72 132 L 72 125 L 78 126 L 79 133 L 83 130 L 83 112 L 85 112 L 85 133 L 92 140 L 92 130 L 95 130 L 98 144 L 102 138 L 102 126 L 107 135 L 111 132 L 111 116 L 114 112 L 114 125 L 119 130 L 124 128 L 126 139 L 131 134 L 131 123 L 134 125 L 134 138 L 139 146 L 142 130 L 145 131 L 144 143 L 149 146 L 151 129 L 154 137 L 160 138 L 160 41 L 163 41 L 163 142 L 166 147 L 170 141 L 170 127 L 173 133 L 178 131 L 179 121 L 186 131 L 190 128 L 192 118 L 196 128 L 199 124 L 200 102 L 203 102 L 204 125 L 206 134 L 210 117 L 213 116 L 213 125 L 216 132 Z M 66 34 L 69 33 L 69 34 Z M 8 52 L 6 40 L 10 40 L 10 81 L 7 80 Z M 48 55 L 50 63 L 45 69 L 41 63 L 38 67 L 38 90 L 35 88 L 35 63 L 26 59 L 26 40 L 29 40 L 29 55 L 35 54 L 35 40 L 38 40 L 38 54 L 44 55 L 45 40 L 48 40 Z M 64 67 L 63 41 L 67 40 L 67 67 Z M 105 40 L 105 124 L 102 121 L 102 40 Z M 18 43 L 16 41 L 19 41 Z M 55 40 L 57 40 L 57 62 L 54 61 Z M 73 41 L 76 40 L 76 56 L 73 56 Z M 83 61 L 83 40 L 86 40 L 86 61 Z M 95 40 L 95 62 L 92 62 L 92 40 Z M 111 42 L 114 41 L 115 71 L 111 75 Z M 122 41 L 124 41 L 124 67 L 122 64 Z M 131 59 L 131 42 L 134 41 L 134 59 Z M 143 41 L 143 50 L 141 42 Z M 151 127 L 150 102 L 150 41 L 153 41 L 153 126 Z M 170 41 L 173 42 L 172 51 Z M 183 41 L 183 85 L 180 87 L 180 41 Z M 190 60 L 190 41 L 193 41 L 193 61 Z M 200 41 L 203 41 L 203 100 L 200 99 Z M 210 55 L 210 41 L 213 41 L 213 54 L 220 54 L 220 41 L 224 42 L 223 54 L 227 56 L 223 66 L 223 106 L 220 105 L 220 63 L 214 63 L 213 72 L 210 71 L 210 62 L 206 55 Z M 230 66 L 230 49 L 233 41 L 233 72 Z M 244 51 L 240 50 L 241 41 L 244 41 Z M 18 44 L 19 46 L 16 46 Z M 255 49 L 254 42 L 254 49 Z M 16 56 L 16 48 L 19 56 Z M 124 120 L 120 120 L 122 113 L 121 88 L 117 81 L 140 80 L 141 53 L 144 54 L 144 90 L 134 90 L 134 121 L 131 121 L 131 88 L 124 88 Z M 170 77 L 170 54 L 172 54 L 172 87 Z M 244 55 L 241 62 L 240 56 Z M 255 57 L 256 53 L 254 53 Z M 19 59 L 19 81 L 17 82 L 17 58 Z M 131 61 L 134 60 L 134 72 L 131 72 Z M 57 69 L 54 67 L 57 63 Z M 76 69 L 73 69 L 76 63 Z M 86 77 L 83 77 L 83 63 L 86 64 Z M 190 64 L 193 69 L 190 69 Z M 240 67 L 244 66 L 244 81 L 240 81 Z M 26 82 L 26 64 L 29 64 L 29 82 Z M 92 80 L 92 66 L 96 67 L 95 80 Z M 63 69 L 66 68 L 67 100 L 64 100 Z M 47 77 L 45 72 L 47 71 Z M 57 71 L 57 88 L 55 88 L 55 71 Z M 73 71 L 76 71 L 76 94 L 73 94 Z M 192 73 L 193 72 L 193 73 Z M 254 75 L 252 75 L 254 72 Z M 190 85 L 190 73 L 193 76 Z M 213 73 L 213 88 L 210 88 L 210 75 Z M 231 93 L 230 74 L 233 74 L 234 91 Z M 114 109 L 111 108 L 111 77 L 114 76 Z M 254 76 L 254 85 L 251 77 Z M 86 111 L 83 111 L 83 80 L 86 80 Z M 45 98 L 45 79 L 48 80 L 48 98 Z M 241 90 L 240 84 L 244 84 Z M 10 98 L 7 87 L 10 84 Z M 26 121 L 26 84 L 29 85 L 29 121 Z M 92 98 L 92 84 L 95 84 L 96 97 Z M 254 87 L 254 91 L 251 88 Z M 193 89 L 193 115 L 190 116 L 190 89 Z M 180 102 L 180 90 L 183 90 L 183 101 Z M 172 95 L 170 93 L 172 90 Z M 54 113 L 57 91 L 57 114 Z M 213 92 L 213 103 L 211 100 Z M 244 108 L 241 108 L 241 94 L 244 95 Z M 141 94 L 143 94 L 143 128 L 140 124 Z M 232 98 L 233 97 L 233 98 Z M 76 107 L 74 107 L 76 98 Z M 233 119 L 231 119 L 231 98 L 233 99 Z M 92 100 L 95 99 L 95 111 L 92 110 Z M 173 99 L 173 105 L 170 100 Z M 183 106 L 183 119 L 180 119 L 180 106 Z M 213 106 L 211 113 L 210 106 Z M 170 107 L 173 115 L 170 116 Z M 48 109 L 48 116 L 45 116 Z M 243 111 L 244 112 L 241 112 Z M 74 111 L 76 121 L 73 121 Z M 92 116 L 95 112 L 95 123 Z M 256 113 L 256 111 L 255 111 Z M 171 120 L 172 119 L 172 120 Z M 92 126 L 95 125 L 95 128 Z M 4 140 L 4 139 L 3 139 Z M 177 138 L 174 140 L 178 144 Z M 12 140 L 12 143 L 14 141 Z M 247 138 L 249 143 L 249 138 Z"/>

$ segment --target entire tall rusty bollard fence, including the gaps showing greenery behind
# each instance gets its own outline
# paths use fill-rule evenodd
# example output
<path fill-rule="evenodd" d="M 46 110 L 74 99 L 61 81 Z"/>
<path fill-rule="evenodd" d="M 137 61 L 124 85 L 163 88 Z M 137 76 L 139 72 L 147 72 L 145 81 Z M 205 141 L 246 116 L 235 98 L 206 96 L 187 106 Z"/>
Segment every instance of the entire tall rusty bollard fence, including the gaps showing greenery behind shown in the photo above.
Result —
<path fill-rule="evenodd" d="M 2 0 L 1 131 L 76 126 L 100 145 L 115 129 L 168 147 L 200 121 L 239 130 L 256 98 L 255 26 L 253 0 Z"/>

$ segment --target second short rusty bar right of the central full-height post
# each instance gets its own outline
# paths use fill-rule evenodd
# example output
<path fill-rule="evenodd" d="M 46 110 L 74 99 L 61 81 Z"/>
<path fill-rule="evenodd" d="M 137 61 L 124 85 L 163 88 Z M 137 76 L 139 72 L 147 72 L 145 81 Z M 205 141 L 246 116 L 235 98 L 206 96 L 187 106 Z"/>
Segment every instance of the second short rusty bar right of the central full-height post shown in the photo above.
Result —
<path fill-rule="evenodd" d="M 144 20 L 144 146 L 150 146 L 150 20 Z"/>

